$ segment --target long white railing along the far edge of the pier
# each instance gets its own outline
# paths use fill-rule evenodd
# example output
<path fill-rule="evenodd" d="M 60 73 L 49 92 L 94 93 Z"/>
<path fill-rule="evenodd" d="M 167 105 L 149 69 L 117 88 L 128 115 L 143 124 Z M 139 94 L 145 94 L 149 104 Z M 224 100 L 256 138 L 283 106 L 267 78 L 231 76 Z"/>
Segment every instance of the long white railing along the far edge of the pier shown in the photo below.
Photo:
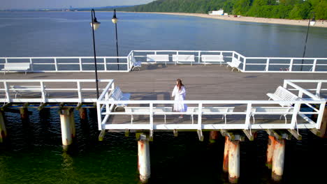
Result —
<path fill-rule="evenodd" d="M 201 60 L 203 54 L 219 54 L 226 62 L 233 58 L 242 64 L 241 72 L 327 72 L 327 58 L 298 58 L 298 57 L 247 57 L 235 51 L 201 51 L 201 50 L 132 50 L 127 56 L 99 56 L 97 65 L 99 72 L 129 72 L 132 69 L 132 57 L 147 63 L 147 54 L 168 54 L 172 61 L 173 54 L 194 54 L 194 64 L 205 64 Z M 86 61 L 86 60 L 89 61 Z M 94 58 L 85 57 L 0 57 L 0 69 L 8 62 L 29 62 L 30 72 L 94 72 L 87 66 L 94 67 Z M 119 59 L 119 63 L 117 63 Z M 207 62 L 208 63 L 208 62 Z M 219 63 L 220 64 L 220 63 Z M 117 66 L 121 66 L 117 70 Z M 43 67 L 39 67 L 43 66 Z M 75 66 L 75 68 L 73 68 Z M 124 66 L 124 68 L 122 68 Z M 63 70 L 63 68 L 66 68 Z M 39 68 L 39 69 L 37 69 Z M 3 72 L 0 70 L 0 72 Z"/>

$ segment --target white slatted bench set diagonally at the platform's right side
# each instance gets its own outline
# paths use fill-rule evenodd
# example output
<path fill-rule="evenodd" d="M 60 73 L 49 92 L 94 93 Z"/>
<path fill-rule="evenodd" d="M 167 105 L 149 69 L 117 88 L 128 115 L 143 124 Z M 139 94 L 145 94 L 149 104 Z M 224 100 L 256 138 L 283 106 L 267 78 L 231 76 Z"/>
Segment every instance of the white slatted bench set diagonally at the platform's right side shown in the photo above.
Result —
<path fill-rule="evenodd" d="M 269 96 L 269 100 L 277 100 L 277 101 L 294 101 L 294 100 L 300 100 L 301 98 L 298 97 L 297 95 L 294 95 L 287 89 L 284 89 L 282 86 L 278 86 L 276 89 L 275 93 L 267 93 Z M 281 102 L 279 103 L 282 107 L 284 106 L 292 106 L 292 103 L 289 102 Z"/>

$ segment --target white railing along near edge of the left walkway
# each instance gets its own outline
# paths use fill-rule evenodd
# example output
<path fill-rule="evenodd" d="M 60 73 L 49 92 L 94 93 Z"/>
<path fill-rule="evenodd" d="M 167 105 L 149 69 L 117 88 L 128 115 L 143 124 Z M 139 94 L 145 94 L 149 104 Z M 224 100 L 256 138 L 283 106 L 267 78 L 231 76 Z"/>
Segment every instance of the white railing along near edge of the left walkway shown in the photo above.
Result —
<path fill-rule="evenodd" d="M 100 84 L 113 87 L 114 80 L 99 79 Z M 95 79 L 1 79 L 0 102 L 96 102 Z"/>

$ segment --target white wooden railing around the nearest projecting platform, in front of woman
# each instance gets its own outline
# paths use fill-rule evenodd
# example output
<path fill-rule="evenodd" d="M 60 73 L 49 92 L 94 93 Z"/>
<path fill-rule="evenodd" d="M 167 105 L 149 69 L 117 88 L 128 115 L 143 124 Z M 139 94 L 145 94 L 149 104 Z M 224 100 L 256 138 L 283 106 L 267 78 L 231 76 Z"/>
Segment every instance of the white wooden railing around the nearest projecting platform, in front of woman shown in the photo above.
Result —
<path fill-rule="evenodd" d="M 286 84 L 290 84 L 286 81 Z M 293 86 L 294 87 L 294 86 Z M 310 129 L 321 126 L 322 116 L 324 114 L 324 107 L 326 105 L 325 99 L 317 98 L 316 95 L 308 92 L 305 89 L 298 88 L 299 95 L 306 94 L 310 99 L 295 100 L 295 101 L 274 101 L 274 100 L 184 100 L 184 104 L 189 107 L 198 107 L 198 112 L 154 112 L 154 107 L 172 107 L 174 100 L 126 100 L 115 101 L 110 98 L 110 86 L 101 94 L 97 101 L 98 111 L 98 125 L 99 130 L 265 130 L 265 129 Z M 258 115 L 282 115 L 280 112 L 252 112 L 252 107 L 280 107 L 279 103 L 293 104 L 293 112 L 284 112 L 283 114 L 291 116 L 289 123 L 251 123 L 251 117 Z M 129 104 L 133 107 L 148 107 L 149 111 L 145 112 L 113 112 L 112 109 L 116 104 Z M 301 105 L 307 105 L 311 111 L 303 111 L 300 109 Z M 234 112 L 212 112 L 215 115 L 241 115 L 245 118 L 236 119 L 240 123 L 202 123 L 203 107 L 238 107 Z M 236 108 L 235 108 L 236 109 Z M 155 115 L 194 115 L 198 117 L 197 123 L 154 123 L 153 116 Z M 317 120 L 314 121 L 310 115 L 317 114 Z M 110 116 L 131 116 L 131 115 L 145 115 L 149 116 L 148 121 L 143 123 L 110 123 Z M 210 112 L 205 112 L 205 115 L 210 115 Z M 309 116 L 308 116 L 309 115 Z M 302 118 L 302 121 L 298 119 Z M 233 116 L 230 118 L 233 120 Z M 276 118 L 278 120 L 278 118 Z M 163 121 L 160 121 L 163 122 Z M 227 121 L 228 122 L 228 121 Z M 302 123 L 300 123 L 302 122 Z M 304 122 L 304 123 L 303 123 Z"/>

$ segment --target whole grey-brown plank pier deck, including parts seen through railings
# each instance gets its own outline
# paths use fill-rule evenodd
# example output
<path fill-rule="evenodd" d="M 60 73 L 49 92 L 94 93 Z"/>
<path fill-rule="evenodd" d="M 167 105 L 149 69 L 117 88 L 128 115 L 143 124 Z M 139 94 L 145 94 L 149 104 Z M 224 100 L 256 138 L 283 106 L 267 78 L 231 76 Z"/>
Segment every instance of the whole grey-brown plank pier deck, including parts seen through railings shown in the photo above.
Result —
<path fill-rule="evenodd" d="M 8 73 L 2 75 L 3 79 L 94 79 L 93 72 L 73 73 Z M 325 74 L 319 73 L 242 73 L 231 72 L 226 66 L 189 66 L 189 65 L 145 65 L 140 71 L 99 73 L 99 79 L 114 79 L 124 93 L 131 93 L 131 100 L 173 100 L 170 97 L 175 86 L 175 79 L 182 79 L 187 87 L 187 100 L 268 100 L 266 93 L 273 93 L 278 86 L 282 86 L 284 79 L 327 79 Z M 64 84 L 51 84 L 54 87 L 69 87 Z M 309 84 L 305 84 L 309 85 Z M 95 84 L 88 83 L 88 88 L 95 88 Z M 105 84 L 100 86 L 105 87 Z M 315 86 L 307 86 L 314 88 Z M 32 94 L 31 94 L 32 95 Z M 92 92 L 83 93 L 88 98 L 96 98 Z M 39 96 L 39 95 L 38 95 Z M 52 98 L 77 98 L 76 92 L 50 93 Z M 29 96 L 31 98 L 31 96 Z M 326 93 L 321 94 L 326 98 Z M 131 105 L 133 106 L 133 105 Z M 240 105 L 235 111 L 244 112 L 246 105 Z M 118 112 L 123 109 L 118 109 Z M 191 124 L 189 115 L 182 120 L 178 115 L 167 117 L 167 124 Z M 227 116 L 228 124 L 240 123 L 245 116 Z M 284 123 L 284 119 L 277 120 L 276 116 L 259 118 L 256 123 Z M 301 118 L 298 118 L 301 119 Z M 130 116 L 110 116 L 112 124 L 131 123 Z M 289 119 L 290 121 L 290 119 Z M 135 124 L 148 123 L 149 116 L 134 115 Z M 194 122 L 197 117 L 194 116 Z M 224 120 L 221 115 L 204 116 L 203 124 L 219 123 Z M 298 123 L 303 123 L 299 121 Z M 163 124 L 163 116 L 154 116 L 154 125 Z"/>

